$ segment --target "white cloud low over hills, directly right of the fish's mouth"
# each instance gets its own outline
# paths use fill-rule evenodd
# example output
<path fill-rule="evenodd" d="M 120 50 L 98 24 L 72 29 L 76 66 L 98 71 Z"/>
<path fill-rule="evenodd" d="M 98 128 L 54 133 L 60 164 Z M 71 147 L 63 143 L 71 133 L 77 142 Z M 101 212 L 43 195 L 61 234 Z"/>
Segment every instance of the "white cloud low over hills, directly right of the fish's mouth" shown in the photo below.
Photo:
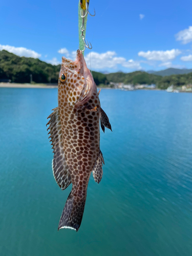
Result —
<path fill-rule="evenodd" d="M 129 69 L 137 69 L 140 70 L 140 62 L 134 61 L 133 59 L 126 60 L 124 57 L 117 57 L 116 52 L 105 52 L 105 53 L 97 53 L 91 52 L 88 53 L 84 59 L 87 62 L 87 65 L 90 65 L 90 54 L 91 54 L 91 68 L 93 69 L 116 69 L 117 65 L 121 65 L 122 67 Z"/>

